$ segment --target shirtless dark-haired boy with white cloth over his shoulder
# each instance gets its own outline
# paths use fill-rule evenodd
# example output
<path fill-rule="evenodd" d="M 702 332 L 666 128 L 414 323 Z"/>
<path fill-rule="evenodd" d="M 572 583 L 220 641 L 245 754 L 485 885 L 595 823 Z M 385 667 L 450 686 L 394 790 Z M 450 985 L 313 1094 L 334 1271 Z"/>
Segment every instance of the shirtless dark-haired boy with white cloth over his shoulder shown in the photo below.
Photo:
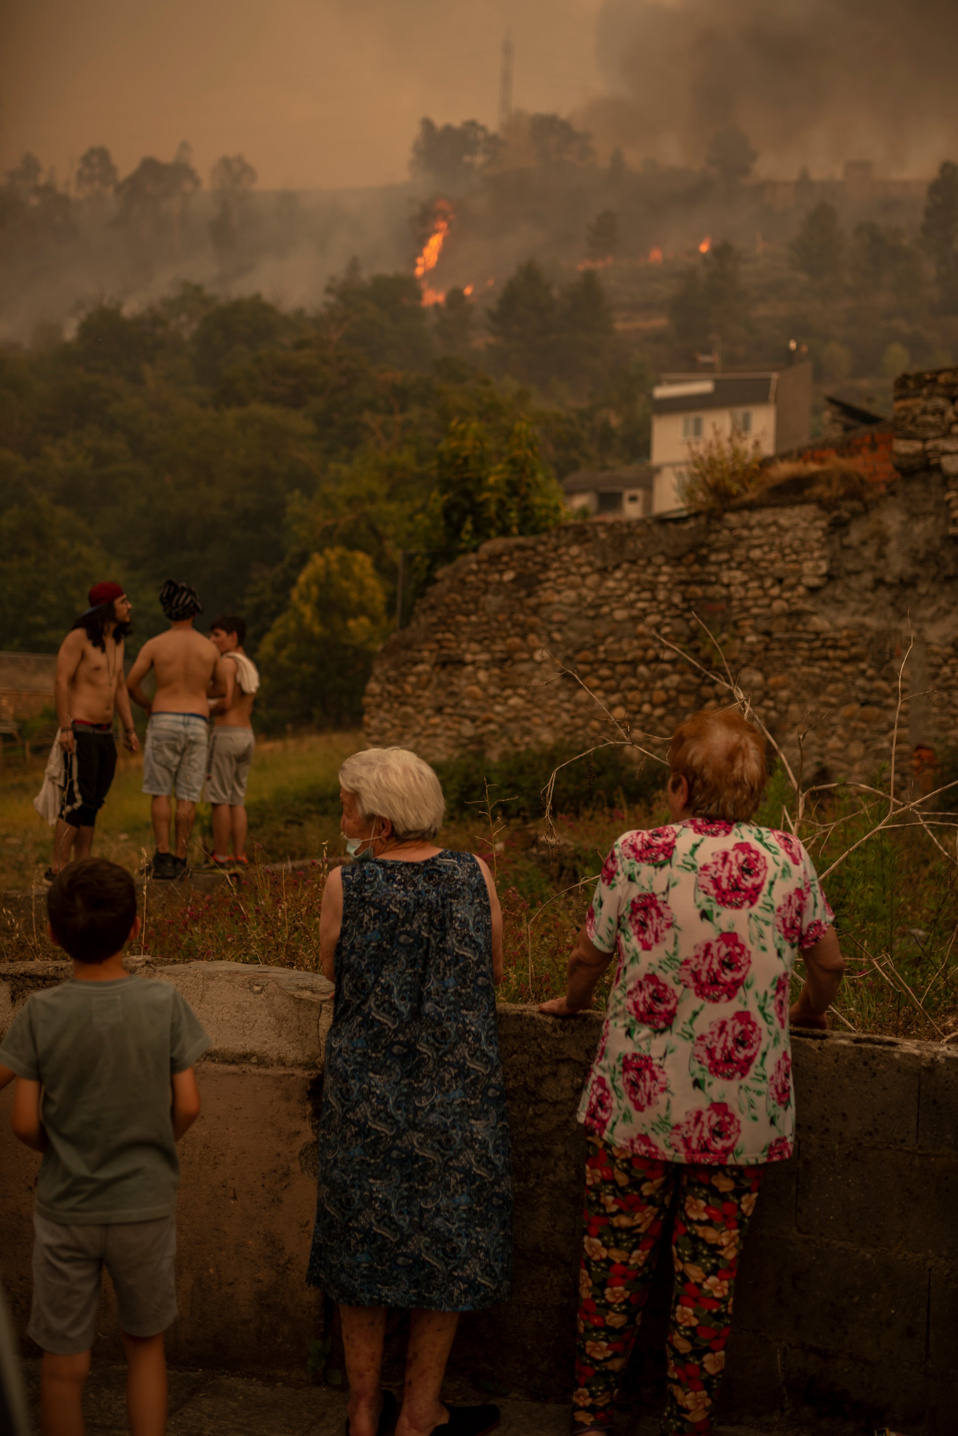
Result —
<path fill-rule="evenodd" d="M 223 613 L 210 625 L 210 638 L 236 671 L 233 704 L 210 694 L 213 732 L 207 760 L 207 787 L 204 797 L 213 806 L 213 860 L 211 867 L 241 864 L 246 867 L 246 783 L 253 763 L 251 715 L 253 699 L 260 686 L 260 675 L 253 659 L 243 651 L 246 643 L 246 620 L 231 613 Z M 230 857 L 233 839 L 233 857 Z"/>

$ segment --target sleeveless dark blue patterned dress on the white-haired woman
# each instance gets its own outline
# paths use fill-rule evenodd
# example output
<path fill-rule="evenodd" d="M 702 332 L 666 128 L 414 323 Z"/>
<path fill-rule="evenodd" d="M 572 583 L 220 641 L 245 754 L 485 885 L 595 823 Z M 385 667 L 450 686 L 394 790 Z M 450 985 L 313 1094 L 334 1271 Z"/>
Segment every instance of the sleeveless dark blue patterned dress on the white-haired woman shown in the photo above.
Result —
<path fill-rule="evenodd" d="M 511 1294 L 491 915 L 468 853 L 342 869 L 307 1282 L 356 1307 Z"/>

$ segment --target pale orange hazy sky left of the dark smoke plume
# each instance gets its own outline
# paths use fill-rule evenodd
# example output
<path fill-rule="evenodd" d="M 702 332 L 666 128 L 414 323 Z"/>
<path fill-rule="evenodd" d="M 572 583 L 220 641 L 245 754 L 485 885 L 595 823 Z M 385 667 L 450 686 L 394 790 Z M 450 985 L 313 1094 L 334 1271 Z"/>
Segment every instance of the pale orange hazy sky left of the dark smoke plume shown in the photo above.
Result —
<path fill-rule="evenodd" d="M 0 0 L 0 168 L 32 149 L 65 178 L 88 145 L 241 151 L 267 187 L 404 180 L 419 119 L 496 126 L 514 101 L 569 112 L 600 92 L 600 0 Z"/>

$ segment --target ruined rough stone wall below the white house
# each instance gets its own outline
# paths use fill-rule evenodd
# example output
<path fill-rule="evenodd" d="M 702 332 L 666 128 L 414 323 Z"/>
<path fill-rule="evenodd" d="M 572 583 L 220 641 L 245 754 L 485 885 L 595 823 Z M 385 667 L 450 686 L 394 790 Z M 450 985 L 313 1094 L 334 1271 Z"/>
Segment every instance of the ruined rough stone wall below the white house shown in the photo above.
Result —
<path fill-rule="evenodd" d="M 905 375 L 896 393 L 902 431 L 925 437 L 896 431 L 901 472 L 883 494 L 823 507 L 790 480 L 720 517 L 570 524 L 458 559 L 376 659 L 368 741 L 427 758 L 587 745 L 616 737 L 603 707 L 639 742 L 639 731 L 668 735 L 725 701 L 711 673 L 662 643 L 721 671 L 704 623 L 819 781 L 863 780 L 889 761 L 911 643 L 898 740 L 909 781 L 916 745 L 958 744 L 958 372 Z"/>

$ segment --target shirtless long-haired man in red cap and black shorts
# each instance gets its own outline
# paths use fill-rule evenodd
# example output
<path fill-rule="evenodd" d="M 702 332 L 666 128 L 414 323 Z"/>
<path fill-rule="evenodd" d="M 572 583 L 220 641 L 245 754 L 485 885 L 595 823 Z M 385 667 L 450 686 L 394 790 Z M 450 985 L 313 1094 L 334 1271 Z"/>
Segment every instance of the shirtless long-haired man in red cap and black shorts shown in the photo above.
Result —
<path fill-rule="evenodd" d="M 124 724 L 126 748 L 139 748 L 124 682 L 124 638 L 131 630 L 134 606 L 119 583 L 95 583 L 88 599 L 89 609 L 76 619 L 56 655 L 53 698 L 63 750 L 63 800 L 53 862 L 46 870 L 50 882 L 69 862 L 90 856 L 96 814 L 116 771 L 113 709 Z"/>

